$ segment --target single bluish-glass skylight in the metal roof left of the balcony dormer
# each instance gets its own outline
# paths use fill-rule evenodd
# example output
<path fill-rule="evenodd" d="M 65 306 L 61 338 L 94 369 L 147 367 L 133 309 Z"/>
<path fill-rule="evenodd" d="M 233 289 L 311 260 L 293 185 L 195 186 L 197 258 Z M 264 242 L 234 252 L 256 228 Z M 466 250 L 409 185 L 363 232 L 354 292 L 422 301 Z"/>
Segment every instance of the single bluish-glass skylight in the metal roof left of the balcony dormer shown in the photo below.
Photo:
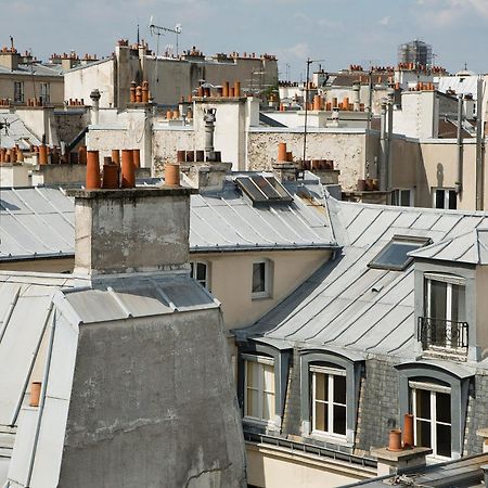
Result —
<path fill-rule="evenodd" d="M 428 237 L 394 235 L 391 241 L 371 260 L 370 268 L 403 271 L 413 258 L 407 254 L 428 244 Z"/>

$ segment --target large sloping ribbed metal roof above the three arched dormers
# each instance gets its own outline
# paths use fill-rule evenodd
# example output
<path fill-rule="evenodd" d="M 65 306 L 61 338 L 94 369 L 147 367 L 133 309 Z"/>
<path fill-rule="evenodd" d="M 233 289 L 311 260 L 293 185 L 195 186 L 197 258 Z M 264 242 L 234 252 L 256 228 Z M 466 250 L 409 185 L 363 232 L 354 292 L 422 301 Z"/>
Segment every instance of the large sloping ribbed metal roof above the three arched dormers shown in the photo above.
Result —
<path fill-rule="evenodd" d="M 488 216 L 455 210 L 330 202 L 343 249 L 279 306 L 247 330 L 265 336 L 365 354 L 413 354 L 413 267 L 368 267 L 393 235 L 428 236 L 434 243 L 486 227 Z"/>

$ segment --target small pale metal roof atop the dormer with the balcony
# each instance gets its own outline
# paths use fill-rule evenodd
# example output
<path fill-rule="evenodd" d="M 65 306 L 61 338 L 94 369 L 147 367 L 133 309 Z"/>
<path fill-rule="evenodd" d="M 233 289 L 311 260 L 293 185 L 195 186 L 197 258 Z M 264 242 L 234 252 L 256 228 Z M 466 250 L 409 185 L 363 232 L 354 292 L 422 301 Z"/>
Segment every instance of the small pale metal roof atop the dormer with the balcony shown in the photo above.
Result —
<path fill-rule="evenodd" d="M 458 237 L 431 244 L 409 253 L 424 259 L 488 265 L 488 229 L 475 229 Z"/>

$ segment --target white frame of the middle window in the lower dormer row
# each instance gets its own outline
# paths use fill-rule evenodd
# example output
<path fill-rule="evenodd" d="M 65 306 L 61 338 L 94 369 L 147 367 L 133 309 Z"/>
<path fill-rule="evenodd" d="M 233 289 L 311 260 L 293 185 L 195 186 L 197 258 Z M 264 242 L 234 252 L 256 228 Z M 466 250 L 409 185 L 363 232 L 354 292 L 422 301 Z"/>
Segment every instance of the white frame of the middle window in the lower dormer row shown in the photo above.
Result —
<path fill-rule="evenodd" d="M 346 370 L 336 368 L 326 368 L 319 365 L 310 365 L 310 373 L 312 375 L 312 408 L 311 408 L 311 434 L 317 436 L 328 436 L 337 439 L 346 440 L 347 435 L 347 386 L 346 386 L 346 403 L 338 403 L 334 401 L 334 376 L 346 376 Z M 317 373 L 328 375 L 328 401 L 317 400 Z M 317 402 L 328 403 L 328 420 L 329 429 L 319 431 L 316 428 L 316 409 Z M 341 406 L 346 408 L 346 434 L 337 434 L 333 431 L 334 428 L 334 406 Z"/>

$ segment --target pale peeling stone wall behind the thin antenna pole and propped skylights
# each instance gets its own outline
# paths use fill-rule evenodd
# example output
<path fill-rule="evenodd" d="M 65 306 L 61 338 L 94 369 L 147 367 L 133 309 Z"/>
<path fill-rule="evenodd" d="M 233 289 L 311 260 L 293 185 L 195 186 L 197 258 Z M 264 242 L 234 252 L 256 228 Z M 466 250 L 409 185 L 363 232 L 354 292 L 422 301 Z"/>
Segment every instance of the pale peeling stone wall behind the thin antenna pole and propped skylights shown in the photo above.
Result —
<path fill-rule="evenodd" d="M 304 133 L 286 130 L 251 129 L 247 136 L 248 169 L 270 169 L 277 160 L 278 144 L 286 142 L 295 158 L 304 154 Z M 365 131 L 321 130 L 307 133 L 307 159 L 333 159 L 341 171 L 339 183 L 344 191 L 356 189 L 359 178 L 364 178 Z"/>

